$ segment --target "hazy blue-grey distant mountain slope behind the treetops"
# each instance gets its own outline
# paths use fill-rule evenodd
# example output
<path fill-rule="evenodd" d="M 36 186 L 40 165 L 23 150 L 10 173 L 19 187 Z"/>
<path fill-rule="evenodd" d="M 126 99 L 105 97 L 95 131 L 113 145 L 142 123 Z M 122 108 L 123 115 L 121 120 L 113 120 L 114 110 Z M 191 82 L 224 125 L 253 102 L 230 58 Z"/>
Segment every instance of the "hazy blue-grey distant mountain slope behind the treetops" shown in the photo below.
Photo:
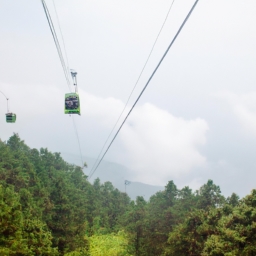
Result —
<path fill-rule="evenodd" d="M 65 161 L 77 165 L 81 165 L 80 157 L 77 155 L 62 153 L 62 157 Z M 92 166 L 95 163 L 95 159 L 90 157 L 84 157 L 88 168 L 85 169 L 85 174 L 89 174 Z M 157 191 L 164 190 L 161 186 L 152 186 L 141 182 L 136 182 L 131 177 L 131 171 L 120 164 L 112 163 L 103 160 L 97 171 L 94 173 L 90 182 L 92 183 L 96 178 L 99 178 L 101 182 L 110 181 L 114 187 L 120 191 L 125 192 L 129 195 L 132 200 L 135 200 L 137 196 L 143 196 L 146 200 L 154 195 Z M 129 180 L 131 183 L 125 186 L 124 181 Z M 126 188 L 125 188 L 126 187 Z"/>

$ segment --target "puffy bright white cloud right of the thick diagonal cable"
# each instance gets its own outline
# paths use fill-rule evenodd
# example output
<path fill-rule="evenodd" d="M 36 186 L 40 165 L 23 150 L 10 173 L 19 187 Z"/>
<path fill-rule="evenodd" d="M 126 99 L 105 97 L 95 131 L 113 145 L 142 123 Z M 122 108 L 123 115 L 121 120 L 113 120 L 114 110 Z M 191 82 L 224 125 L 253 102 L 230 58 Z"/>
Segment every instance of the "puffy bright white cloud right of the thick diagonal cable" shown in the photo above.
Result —
<path fill-rule="evenodd" d="M 137 180 L 164 185 L 206 164 L 198 147 L 206 143 L 207 123 L 178 118 L 152 104 L 137 107 L 120 134 L 123 161 Z M 120 158 L 124 158 L 120 156 Z"/>

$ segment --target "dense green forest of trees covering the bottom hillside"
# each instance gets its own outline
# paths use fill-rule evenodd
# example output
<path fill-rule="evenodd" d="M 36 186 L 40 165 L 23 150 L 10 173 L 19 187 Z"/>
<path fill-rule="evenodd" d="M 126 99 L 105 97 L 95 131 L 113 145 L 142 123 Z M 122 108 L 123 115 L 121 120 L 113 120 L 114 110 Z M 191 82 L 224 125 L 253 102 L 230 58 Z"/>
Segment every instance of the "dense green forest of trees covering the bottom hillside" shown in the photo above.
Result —
<path fill-rule="evenodd" d="M 147 202 L 87 181 L 60 153 L 0 141 L 0 255 L 256 255 L 256 190 L 167 182 Z"/>

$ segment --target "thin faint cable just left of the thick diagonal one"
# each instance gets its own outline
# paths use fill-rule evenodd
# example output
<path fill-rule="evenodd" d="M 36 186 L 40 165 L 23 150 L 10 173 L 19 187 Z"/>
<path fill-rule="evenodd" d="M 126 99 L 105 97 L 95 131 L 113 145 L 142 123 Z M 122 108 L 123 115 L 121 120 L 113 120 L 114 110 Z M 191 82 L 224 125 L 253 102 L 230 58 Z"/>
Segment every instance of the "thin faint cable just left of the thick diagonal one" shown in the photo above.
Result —
<path fill-rule="evenodd" d="M 148 64 L 148 61 L 149 61 L 149 59 L 150 59 L 150 57 L 151 57 L 151 55 L 152 55 L 152 52 L 153 52 L 153 50 L 154 50 L 154 48 L 155 48 L 155 45 L 156 45 L 156 43 L 157 43 L 157 41 L 158 41 L 158 38 L 159 38 L 159 36 L 160 36 L 160 34 L 161 34 L 162 30 L 163 30 L 163 27 L 164 27 L 164 25 L 165 25 L 165 23 L 166 23 L 166 21 L 167 21 L 167 19 L 168 19 L 168 16 L 169 16 L 169 14 L 170 14 L 170 12 L 171 12 L 171 9 L 172 9 L 172 6 L 173 6 L 174 1 L 175 1 L 175 0 L 172 0 L 172 3 L 171 3 L 171 5 L 170 5 L 170 7 L 169 7 L 169 10 L 168 10 L 168 12 L 167 12 L 167 14 L 166 14 L 166 16 L 165 16 L 164 22 L 163 22 L 163 24 L 162 24 L 162 26 L 161 26 L 161 28 L 160 28 L 160 31 L 159 31 L 158 34 L 157 34 L 157 37 L 156 37 L 156 39 L 155 39 L 155 42 L 153 43 L 153 46 L 151 47 L 151 50 L 150 50 L 150 52 L 149 52 L 149 55 L 148 55 L 148 57 L 147 57 L 147 59 L 146 59 L 146 62 L 145 62 L 145 64 L 144 64 L 144 66 L 143 66 L 143 68 L 142 68 L 142 70 L 141 70 L 141 72 L 140 72 L 140 74 L 139 74 L 137 80 L 136 80 L 136 83 L 135 83 L 135 85 L 133 86 L 133 89 L 132 89 L 132 91 L 131 91 L 131 93 L 130 93 L 128 99 L 126 100 L 125 106 L 124 106 L 122 112 L 120 113 L 120 115 L 119 115 L 119 117 L 118 117 L 116 123 L 114 124 L 114 127 L 112 128 L 111 132 L 109 133 L 109 135 L 108 135 L 108 137 L 107 137 L 107 139 L 106 139 L 104 145 L 102 146 L 101 151 L 100 151 L 99 155 L 97 156 L 97 159 L 95 160 L 94 165 L 93 165 L 93 167 L 92 167 L 91 170 L 93 170 L 94 167 L 96 166 L 96 164 L 97 164 L 97 162 L 98 162 L 98 160 L 99 160 L 99 158 L 100 158 L 100 156 L 101 156 L 101 153 L 103 152 L 103 150 L 104 150 L 104 148 L 105 148 L 105 146 L 106 146 L 106 144 L 107 144 L 107 142 L 108 142 L 108 140 L 109 140 L 111 134 L 113 133 L 113 131 L 114 131 L 114 129 L 116 128 L 116 126 L 117 126 L 117 124 L 118 124 L 118 122 L 119 122 L 121 116 L 123 115 L 123 113 L 124 113 L 124 111 L 125 111 L 125 109 L 126 109 L 126 107 L 127 107 L 127 105 L 128 105 L 128 102 L 130 101 L 130 98 L 131 98 L 131 96 L 132 96 L 132 94 L 133 94 L 133 92 L 134 92 L 134 90 L 135 90 L 135 88 L 136 88 L 136 86 L 137 86 L 137 84 L 138 84 L 138 82 L 139 82 L 141 76 L 142 76 L 142 73 L 144 72 L 144 69 L 146 68 L 146 66 L 147 66 L 147 64 Z"/>

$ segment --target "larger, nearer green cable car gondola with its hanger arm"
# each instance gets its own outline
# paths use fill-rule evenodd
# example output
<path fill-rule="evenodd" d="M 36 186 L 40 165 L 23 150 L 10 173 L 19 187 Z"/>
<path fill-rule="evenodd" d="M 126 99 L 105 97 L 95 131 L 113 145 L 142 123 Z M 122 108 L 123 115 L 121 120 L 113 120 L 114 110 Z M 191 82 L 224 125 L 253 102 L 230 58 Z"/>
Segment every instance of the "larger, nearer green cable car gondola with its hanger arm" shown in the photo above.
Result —
<path fill-rule="evenodd" d="M 71 76 L 75 86 L 75 92 L 65 94 L 65 114 L 78 114 L 80 115 L 80 100 L 77 93 L 77 72 L 71 69 Z"/>

